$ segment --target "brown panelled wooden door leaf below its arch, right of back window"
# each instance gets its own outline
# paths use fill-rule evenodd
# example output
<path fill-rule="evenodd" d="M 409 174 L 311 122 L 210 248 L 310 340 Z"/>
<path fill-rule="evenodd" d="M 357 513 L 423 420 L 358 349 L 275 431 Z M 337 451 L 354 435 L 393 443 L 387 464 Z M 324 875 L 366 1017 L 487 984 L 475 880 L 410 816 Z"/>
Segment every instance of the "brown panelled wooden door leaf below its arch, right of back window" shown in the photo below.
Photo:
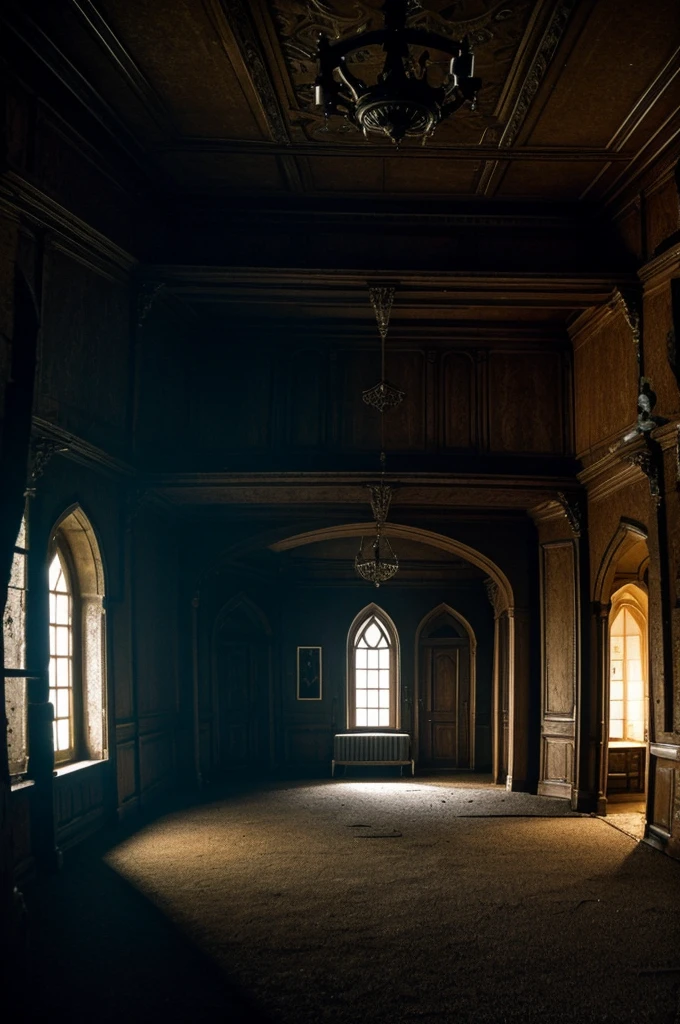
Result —
<path fill-rule="evenodd" d="M 430 642 L 422 648 L 420 764 L 470 767 L 470 645 Z"/>

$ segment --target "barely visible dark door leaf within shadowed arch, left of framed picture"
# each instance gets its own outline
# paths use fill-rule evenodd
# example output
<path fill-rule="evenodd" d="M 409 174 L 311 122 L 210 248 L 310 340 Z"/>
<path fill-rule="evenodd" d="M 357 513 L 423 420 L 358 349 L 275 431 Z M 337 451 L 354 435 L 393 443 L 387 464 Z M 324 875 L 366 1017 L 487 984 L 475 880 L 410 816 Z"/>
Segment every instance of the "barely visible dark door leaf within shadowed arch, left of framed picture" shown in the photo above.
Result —
<path fill-rule="evenodd" d="M 265 757 L 263 723 L 268 706 L 253 641 L 220 644 L 218 667 L 220 768 L 255 767 Z"/>

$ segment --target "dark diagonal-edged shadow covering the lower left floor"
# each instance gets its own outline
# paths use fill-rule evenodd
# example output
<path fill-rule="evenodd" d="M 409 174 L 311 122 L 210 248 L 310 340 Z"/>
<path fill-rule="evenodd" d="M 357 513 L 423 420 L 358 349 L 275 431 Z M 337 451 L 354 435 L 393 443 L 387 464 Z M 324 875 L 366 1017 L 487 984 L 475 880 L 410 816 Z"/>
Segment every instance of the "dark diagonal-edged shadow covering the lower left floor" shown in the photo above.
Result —
<path fill-rule="evenodd" d="M 85 844 L 58 876 L 27 888 L 31 976 L 22 986 L 23 1019 L 270 1024 L 248 993 L 103 863 L 110 845 Z"/>

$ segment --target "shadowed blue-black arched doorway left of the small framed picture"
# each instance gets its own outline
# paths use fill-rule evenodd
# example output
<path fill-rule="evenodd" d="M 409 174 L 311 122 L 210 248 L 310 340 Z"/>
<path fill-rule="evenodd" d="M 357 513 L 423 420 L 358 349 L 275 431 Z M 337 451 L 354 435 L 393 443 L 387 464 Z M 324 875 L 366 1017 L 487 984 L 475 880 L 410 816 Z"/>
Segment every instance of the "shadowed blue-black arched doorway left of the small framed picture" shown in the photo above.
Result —
<path fill-rule="evenodd" d="M 219 612 L 212 635 L 213 773 L 269 767 L 270 630 L 248 598 Z"/>

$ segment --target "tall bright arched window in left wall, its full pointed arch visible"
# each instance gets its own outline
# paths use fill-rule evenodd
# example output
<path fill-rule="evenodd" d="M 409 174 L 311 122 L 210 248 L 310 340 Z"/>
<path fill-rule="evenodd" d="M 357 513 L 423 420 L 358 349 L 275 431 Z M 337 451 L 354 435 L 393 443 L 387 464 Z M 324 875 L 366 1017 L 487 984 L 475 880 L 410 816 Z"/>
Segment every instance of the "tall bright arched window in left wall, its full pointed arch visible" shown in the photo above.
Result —
<path fill-rule="evenodd" d="M 57 764 L 108 756 L 103 568 L 80 508 L 52 536 L 49 555 L 49 699 Z"/>

